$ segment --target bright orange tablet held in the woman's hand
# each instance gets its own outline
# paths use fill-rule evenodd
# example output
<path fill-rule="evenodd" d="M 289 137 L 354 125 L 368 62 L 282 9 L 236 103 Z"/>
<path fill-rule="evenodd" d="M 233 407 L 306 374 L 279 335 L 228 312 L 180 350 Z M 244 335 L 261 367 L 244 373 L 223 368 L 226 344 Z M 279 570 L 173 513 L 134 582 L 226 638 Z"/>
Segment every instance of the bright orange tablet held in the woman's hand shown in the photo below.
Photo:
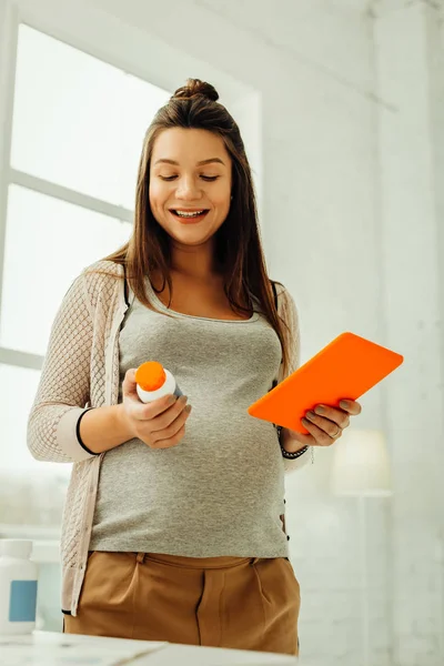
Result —
<path fill-rule="evenodd" d="M 313 359 L 253 403 L 251 416 L 306 434 L 301 418 L 319 404 L 357 400 L 404 361 L 354 333 L 342 333 Z"/>

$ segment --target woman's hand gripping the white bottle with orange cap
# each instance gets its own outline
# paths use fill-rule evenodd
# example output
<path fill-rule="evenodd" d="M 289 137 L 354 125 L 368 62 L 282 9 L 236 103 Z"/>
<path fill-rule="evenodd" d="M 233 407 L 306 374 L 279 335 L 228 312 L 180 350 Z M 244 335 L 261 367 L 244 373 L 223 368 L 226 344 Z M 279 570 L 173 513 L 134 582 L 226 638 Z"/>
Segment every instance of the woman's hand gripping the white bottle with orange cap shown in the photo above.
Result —
<path fill-rule="evenodd" d="M 130 369 L 122 383 L 122 410 L 133 437 L 151 448 L 176 446 L 185 434 L 185 422 L 191 405 L 182 395 L 165 395 L 151 403 L 142 403 L 137 393 L 135 369 Z"/>

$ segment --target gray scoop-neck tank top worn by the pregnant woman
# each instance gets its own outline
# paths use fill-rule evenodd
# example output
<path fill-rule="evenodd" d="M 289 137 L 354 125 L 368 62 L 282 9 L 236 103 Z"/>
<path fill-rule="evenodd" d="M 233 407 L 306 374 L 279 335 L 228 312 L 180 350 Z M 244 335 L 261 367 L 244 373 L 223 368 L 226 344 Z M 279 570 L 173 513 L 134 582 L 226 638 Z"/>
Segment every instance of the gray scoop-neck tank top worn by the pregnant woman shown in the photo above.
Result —
<path fill-rule="evenodd" d="M 178 446 L 131 440 L 104 455 L 90 549 L 286 557 L 276 430 L 246 412 L 278 377 L 278 335 L 259 312 L 242 321 L 174 313 L 147 289 L 161 313 L 133 299 L 120 333 L 121 382 L 130 367 L 159 361 L 193 408 Z"/>

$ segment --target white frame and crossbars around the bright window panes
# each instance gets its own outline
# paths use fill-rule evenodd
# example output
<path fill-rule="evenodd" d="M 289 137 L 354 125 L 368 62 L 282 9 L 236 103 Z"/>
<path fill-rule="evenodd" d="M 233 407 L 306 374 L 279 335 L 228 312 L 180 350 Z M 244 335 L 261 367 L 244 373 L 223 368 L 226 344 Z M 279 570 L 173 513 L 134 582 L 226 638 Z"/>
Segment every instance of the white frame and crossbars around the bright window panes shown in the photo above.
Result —
<path fill-rule="evenodd" d="M 37 4 L 37 6 L 36 6 Z M 60 0 L 0 0 L 0 121 L 4 132 L 0 135 L 0 319 L 2 312 L 2 284 L 4 269 L 8 190 L 11 184 L 21 185 L 56 199 L 84 206 L 112 218 L 132 222 L 133 212 L 46 181 L 44 179 L 12 169 L 10 164 L 13 99 L 17 69 L 17 48 L 20 23 L 39 30 L 67 44 L 89 53 L 124 72 L 150 83 L 174 90 L 178 81 L 184 81 L 190 72 L 200 71 L 201 77 L 215 81 L 223 94 L 223 102 L 234 110 L 242 124 L 246 150 L 255 176 L 258 206 L 261 210 L 262 178 L 262 124 L 261 95 L 249 84 L 234 80 L 204 60 L 178 51 L 143 28 L 124 24 L 118 18 L 94 7 L 75 7 Z M 165 62 L 165 67 L 159 63 Z M 171 64 L 174 63 L 174 67 Z M 252 122 L 254 119 L 254 122 Z M 250 144 L 250 145 L 249 145 Z M 43 356 L 0 346 L 0 363 L 41 370 Z"/>

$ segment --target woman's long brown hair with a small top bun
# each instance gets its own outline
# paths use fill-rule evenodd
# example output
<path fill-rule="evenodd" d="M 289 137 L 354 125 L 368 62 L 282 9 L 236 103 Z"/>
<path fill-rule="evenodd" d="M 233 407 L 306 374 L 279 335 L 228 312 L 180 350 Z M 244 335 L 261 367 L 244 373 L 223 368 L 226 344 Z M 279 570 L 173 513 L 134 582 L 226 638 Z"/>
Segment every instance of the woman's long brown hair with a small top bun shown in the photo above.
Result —
<path fill-rule="evenodd" d="M 143 142 L 133 233 L 128 243 L 105 259 L 124 266 L 135 297 L 144 305 L 154 307 L 144 286 L 147 275 L 153 282 L 154 272 L 162 275 L 161 291 L 167 283 L 171 295 L 170 236 L 154 219 L 149 201 L 153 145 L 159 134 L 170 128 L 202 129 L 221 137 L 232 160 L 231 206 L 225 221 L 215 233 L 214 243 L 215 260 L 224 275 L 224 291 L 238 314 L 253 310 L 252 296 L 259 301 L 261 311 L 279 336 L 284 369 L 287 369 L 289 350 L 283 330 L 285 322 L 278 315 L 266 274 L 250 164 L 239 127 L 218 99 L 219 94 L 210 83 L 189 79 L 159 109 Z"/>

